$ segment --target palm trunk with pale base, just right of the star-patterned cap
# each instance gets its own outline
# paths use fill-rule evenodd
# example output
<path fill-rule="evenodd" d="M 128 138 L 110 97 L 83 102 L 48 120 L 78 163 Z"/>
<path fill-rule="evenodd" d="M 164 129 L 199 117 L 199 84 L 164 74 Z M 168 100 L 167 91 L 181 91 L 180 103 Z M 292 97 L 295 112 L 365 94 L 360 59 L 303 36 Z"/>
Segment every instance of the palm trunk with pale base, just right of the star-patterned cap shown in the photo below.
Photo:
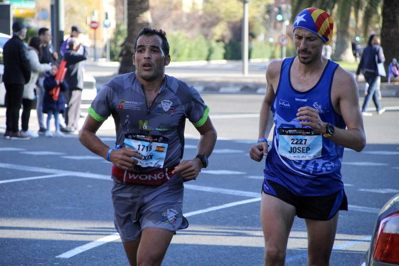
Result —
<path fill-rule="evenodd" d="M 337 25 L 337 41 L 331 59 L 333 61 L 355 62 L 349 36 L 349 19 L 352 1 L 341 0 L 338 2 L 339 19 Z M 338 12 L 337 12 L 338 13 Z M 335 23 L 334 23 L 335 24 Z"/>

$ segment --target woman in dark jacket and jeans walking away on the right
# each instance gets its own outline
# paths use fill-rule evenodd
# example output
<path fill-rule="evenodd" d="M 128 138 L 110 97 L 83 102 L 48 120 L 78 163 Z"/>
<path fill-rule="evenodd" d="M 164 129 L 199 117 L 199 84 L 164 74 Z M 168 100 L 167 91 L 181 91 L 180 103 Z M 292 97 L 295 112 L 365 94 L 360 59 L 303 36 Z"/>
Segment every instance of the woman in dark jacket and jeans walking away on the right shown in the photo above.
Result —
<path fill-rule="evenodd" d="M 383 63 L 385 61 L 384 53 L 382 51 L 382 47 L 379 46 L 379 37 L 375 34 L 370 35 L 368 45 L 363 50 L 363 54 L 360 58 L 360 63 L 358 66 L 358 71 L 356 71 L 356 81 L 359 81 L 359 73 L 363 73 L 364 79 L 369 85 L 367 92 L 365 93 L 365 98 L 363 102 L 363 106 L 361 108 L 361 113 L 363 116 L 371 116 L 373 115 L 370 112 L 367 112 L 367 106 L 371 98 L 377 108 L 377 113 L 382 114 L 385 112 L 385 108 L 381 107 L 379 103 L 378 94 L 377 94 L 377 82 L 379 79 L 377 63 Z"/>

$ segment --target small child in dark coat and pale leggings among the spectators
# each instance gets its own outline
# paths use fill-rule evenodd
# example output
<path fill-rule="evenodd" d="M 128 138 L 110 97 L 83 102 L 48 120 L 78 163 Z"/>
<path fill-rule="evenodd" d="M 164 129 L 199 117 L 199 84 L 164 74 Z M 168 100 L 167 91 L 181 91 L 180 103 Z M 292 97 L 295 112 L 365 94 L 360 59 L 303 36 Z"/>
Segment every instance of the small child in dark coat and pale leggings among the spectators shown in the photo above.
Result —
<path fill-rule="evenodd" d="M 53 99 L 53 95 L 50 95 L 50 91 L 60 85 L 61 91 L 66 91 L 68 85 L 65 81 L 59 83 L 55 80 L 55 74 L 57 73 L 57 65 L 52 65 L 50 75 L 47 75 L 43 80 L 43 87 L 45 90 L 43 97 L 43 113 L 47 114 L 47 130 L 45 132 L 46 137 L 52 137 L 53 134 L 50 131 L 50 120 L 51 116 L 54 115 L 55 122 L 55 137 L 63 137 L 64 134 L 59 130 L 58 114 L 65 112 L 65 98 L 62 92 L 59 93 L 58 100 Z"/>

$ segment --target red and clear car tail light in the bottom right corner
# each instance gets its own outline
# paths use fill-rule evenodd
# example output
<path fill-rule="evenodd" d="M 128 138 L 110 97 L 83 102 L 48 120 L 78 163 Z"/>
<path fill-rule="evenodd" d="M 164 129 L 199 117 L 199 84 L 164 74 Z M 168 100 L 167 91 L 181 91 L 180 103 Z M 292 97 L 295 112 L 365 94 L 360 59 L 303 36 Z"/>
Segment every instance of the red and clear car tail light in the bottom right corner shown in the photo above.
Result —
<path fill-rule="evenodd" d="M 376 239 L 373 259 L 399 265 L 399 211 L 381 220 Z"/>

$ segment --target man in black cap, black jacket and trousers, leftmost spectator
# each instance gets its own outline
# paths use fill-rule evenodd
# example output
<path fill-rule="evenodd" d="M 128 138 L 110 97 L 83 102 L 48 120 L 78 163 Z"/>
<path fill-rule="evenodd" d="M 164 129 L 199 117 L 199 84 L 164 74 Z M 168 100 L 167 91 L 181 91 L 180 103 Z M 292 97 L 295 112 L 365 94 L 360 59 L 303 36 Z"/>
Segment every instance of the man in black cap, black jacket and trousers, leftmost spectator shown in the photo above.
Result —
<path fill-rule="evenodd" d="M 28 51 L 22 41 L 26 37 L 26 27 L 22 22 L 12 24 L 12 38 L 4 44 L 4 75 L 6 87 L 6 132 L 4 138 L 12 140 L 29 140 L 19 131 L 18 121 L 22 104 L 24 85 L 30 80 L 30 63 Z"/>

